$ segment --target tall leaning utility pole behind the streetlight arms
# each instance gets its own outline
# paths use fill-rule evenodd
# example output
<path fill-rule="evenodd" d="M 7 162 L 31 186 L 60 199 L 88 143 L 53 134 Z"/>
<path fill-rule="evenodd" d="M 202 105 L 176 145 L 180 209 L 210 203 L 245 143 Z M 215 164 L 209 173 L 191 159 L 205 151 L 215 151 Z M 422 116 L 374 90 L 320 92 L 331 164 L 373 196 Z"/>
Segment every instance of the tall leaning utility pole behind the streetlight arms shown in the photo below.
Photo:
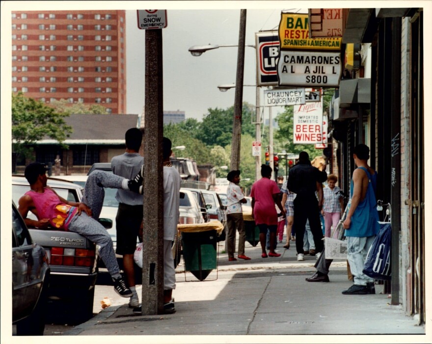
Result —
<path fill-rule="evenodd" d="M 242 139 L 242 110 L 243 110 L 243 70 L 244 70 L 244 41 L 246 34 L 246 10 L 240 10 L 239 53 L 237 55 L 236 95 L 234 99 L 233 138 L 231 144 L 231 170 L 238 170 L 240 166 L 240 142 Z"/>

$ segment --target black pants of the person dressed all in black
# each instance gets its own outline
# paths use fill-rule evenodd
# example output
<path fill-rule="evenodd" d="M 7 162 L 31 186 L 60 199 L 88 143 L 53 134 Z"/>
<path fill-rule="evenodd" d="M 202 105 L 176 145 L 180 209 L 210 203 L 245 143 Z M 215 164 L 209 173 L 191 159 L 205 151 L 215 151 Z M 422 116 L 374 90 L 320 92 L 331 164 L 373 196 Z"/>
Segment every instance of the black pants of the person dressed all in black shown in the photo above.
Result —
<path fill-rule="evenodd" d="M 294 224 L 296 229 L 296 249 L 297 253 L 303 251 L 303 237 L 306 221 L 309 220 L 309 226 L 314 236 L 315 251 L 321 252 L 324 248 L 323 230 L 321 229 L 320 209 L 315 194 L 303 196 L 297 194 L 294 200 Z"/>

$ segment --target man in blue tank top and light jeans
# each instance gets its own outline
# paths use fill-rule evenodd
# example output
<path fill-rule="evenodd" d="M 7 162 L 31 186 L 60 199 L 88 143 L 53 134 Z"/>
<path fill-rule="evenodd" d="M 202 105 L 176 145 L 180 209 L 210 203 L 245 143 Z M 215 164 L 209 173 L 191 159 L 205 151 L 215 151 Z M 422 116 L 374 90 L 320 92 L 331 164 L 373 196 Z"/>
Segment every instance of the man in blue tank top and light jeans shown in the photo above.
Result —
<path fill-rule="evenodd" d="M 353 158 L 358 167 L 352 173 L 348 214 L 344 221 L 347 259 L 354 276 L 354 284 L 343 294 L 368 294 L 368 284 L 374 279 L 363 273 L 369 248 L 379 232 L 377 200 L 377 172 L 368 165 L 369 147 L 359 144 Z"/>

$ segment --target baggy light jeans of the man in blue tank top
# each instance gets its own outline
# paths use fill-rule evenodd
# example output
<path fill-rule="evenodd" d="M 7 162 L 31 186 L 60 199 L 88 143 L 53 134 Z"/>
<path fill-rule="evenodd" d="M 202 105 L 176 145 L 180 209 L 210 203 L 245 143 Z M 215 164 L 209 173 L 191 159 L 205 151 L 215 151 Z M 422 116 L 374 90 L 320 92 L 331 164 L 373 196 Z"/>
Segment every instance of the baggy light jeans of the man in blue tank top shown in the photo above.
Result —
<path fill-rule="evenodd" d="M 350 263 L 351 273 L 354 276 L 354 284 L 366 286 L 367 283 L 374 282 L 373 278 L 363 273 L 363 266 L 369 248 L 374 242 L 375 236 L 371 237 L 346 237 L 347 259 Z"/>

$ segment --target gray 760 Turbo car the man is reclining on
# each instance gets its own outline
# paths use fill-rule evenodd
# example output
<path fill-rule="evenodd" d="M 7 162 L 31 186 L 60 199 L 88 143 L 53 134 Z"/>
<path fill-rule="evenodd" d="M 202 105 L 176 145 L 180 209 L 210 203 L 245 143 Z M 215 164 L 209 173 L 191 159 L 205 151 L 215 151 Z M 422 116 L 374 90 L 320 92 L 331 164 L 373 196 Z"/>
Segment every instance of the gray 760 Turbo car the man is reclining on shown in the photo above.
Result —
<path fill-rule="evenodd" d="M 81 186 L 55 178 L 47 184 L 64 199 L 80 202 Z M 29 190 L 24 176 L 12 176 L 12 200 L 18 200 Z M 28 217 L 36 219 L 29 212 Z M 110 228 L 109 219 L 99 220 Z M 81 323 L 93 316 L 94 286 L 98 275 L 99 255 L 95 244 L 78 233 L 29 228 L 34 242 L 44 247 L 51 270 L 47 307 L 52 308 L 50 321 L 65 316 L 68 323 Z"/>

